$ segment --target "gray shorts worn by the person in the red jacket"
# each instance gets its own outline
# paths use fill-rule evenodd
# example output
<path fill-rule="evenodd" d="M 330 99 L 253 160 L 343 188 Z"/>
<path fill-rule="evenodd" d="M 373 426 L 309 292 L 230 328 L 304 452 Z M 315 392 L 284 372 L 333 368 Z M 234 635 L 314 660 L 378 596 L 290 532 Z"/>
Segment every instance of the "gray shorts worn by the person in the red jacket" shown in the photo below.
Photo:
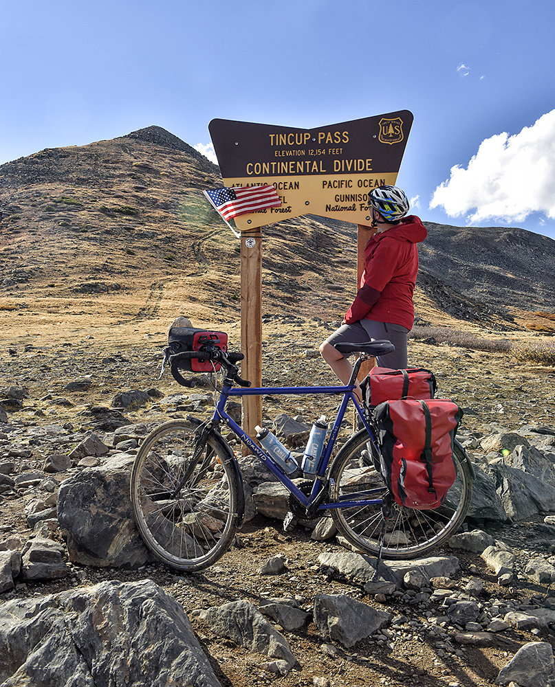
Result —
<path fill-rule="evenodd" d="M 409 338 L 409 329 L 400 324 L 387 322 L 374 322 L 372 319 L 360 319 L 353 324 L 343 324 L 331 337 L 326 340 L 333 346 L 334 343 L 364 343 L 371 339 L 387 339 L 391 341 L 395 350 L 387 355 L 380 355 L 376 359 L 381 368 L 404 370 L 407 366 L 406 341 Z"/>

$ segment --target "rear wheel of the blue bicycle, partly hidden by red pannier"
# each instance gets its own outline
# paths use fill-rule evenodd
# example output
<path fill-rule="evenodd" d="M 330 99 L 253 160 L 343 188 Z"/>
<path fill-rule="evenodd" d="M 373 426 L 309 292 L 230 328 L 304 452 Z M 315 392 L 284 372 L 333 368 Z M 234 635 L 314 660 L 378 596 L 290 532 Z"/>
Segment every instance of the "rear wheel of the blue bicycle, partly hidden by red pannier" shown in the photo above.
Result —
<path fill-rule="evenodd" d="M 330 471 L 330 501 L 362 488 L 387 488 L 376 471 L 367 449 L 366 430 L 356 433 L 336 456 Z M 385 521 L 382 558 L 391 560 L 415 559 L 429 554 L 455 534 L 466 517 L 472 499 L 472 468 L 461 444 L 455 440 L 453 461 L 457 477 L 444 504 L 433 510 L 415 510 L 393 503 L 391 517 Z M 356 486 L 353 486 L 356 482 Z M 368 497 L 366 497 L 368 499 Z M 351 506 L 331 510 L 339 532 L 360 550 L 377 555 L 384 517 L 382 506 Z"/>

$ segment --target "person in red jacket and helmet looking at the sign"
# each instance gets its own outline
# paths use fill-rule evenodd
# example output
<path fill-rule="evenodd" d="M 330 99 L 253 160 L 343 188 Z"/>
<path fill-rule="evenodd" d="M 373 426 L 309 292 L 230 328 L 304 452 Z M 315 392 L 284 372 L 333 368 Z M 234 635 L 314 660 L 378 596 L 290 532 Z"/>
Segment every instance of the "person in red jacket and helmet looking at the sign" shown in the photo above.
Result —
<path fill-rule="evenodd" d="M 343 323 L 320 346 L 320 354 L 336 376 L 349 382 L 351 363 L 334 343 L 362 343 L 388 339 L 395 350 L 380 356 L 382 367 L 406 368 L 406 343 L 414 323 L 413 292 L 418 271 L 417 243 L 426 238 L 426 227 L 407 215 L 409 201 L 396 186 L 378 186 L 369 193 L 371 227 L 375 233 L 364 249 L 364 271 L 356 298 Z"/>

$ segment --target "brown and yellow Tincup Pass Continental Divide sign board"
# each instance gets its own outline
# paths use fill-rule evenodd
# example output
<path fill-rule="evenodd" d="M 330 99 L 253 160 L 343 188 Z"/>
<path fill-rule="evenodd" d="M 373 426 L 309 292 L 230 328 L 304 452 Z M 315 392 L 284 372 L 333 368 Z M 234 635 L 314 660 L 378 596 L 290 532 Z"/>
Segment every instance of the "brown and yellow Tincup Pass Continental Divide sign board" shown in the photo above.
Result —
<path fill-rule="evenodd" d="M 281 207 L 235 218 L 241 230 L 316 214 L 369 224 L 368 193 L 397 179 L 413 115 L 408 110 L 301 129 L 232 120 L 208 128 L 226 186 L 271 183 Z"/>

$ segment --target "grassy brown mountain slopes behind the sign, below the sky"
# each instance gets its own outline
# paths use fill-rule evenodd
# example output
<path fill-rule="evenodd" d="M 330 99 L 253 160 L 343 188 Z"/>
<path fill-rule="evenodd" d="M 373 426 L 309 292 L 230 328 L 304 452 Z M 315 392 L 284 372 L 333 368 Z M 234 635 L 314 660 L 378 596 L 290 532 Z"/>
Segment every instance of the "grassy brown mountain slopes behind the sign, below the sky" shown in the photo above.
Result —
<path fill-rule="evenodd" d="M 112 324 L 152 319 L 168 301 L 193 317 L 235 317 L 239 247 L 202 196 L 220 183 L 217 166 L 156 126 L 0 166 L 7 306 L 32 311 L 40 302 L 49 313 L 69 302 L 77 321 L 78 297 L 100 294 L 92 306 L 113 305 Z M 312 216 L 266 227 L 268 311 L 338 319 L 356 290 L 355 231 Z M 417 284 L 423 319 L 439 311 L 505 328 L 523 311 L 554 310 L 554 241 L 519 229 L 428 223 L 428 231 Z"/>

